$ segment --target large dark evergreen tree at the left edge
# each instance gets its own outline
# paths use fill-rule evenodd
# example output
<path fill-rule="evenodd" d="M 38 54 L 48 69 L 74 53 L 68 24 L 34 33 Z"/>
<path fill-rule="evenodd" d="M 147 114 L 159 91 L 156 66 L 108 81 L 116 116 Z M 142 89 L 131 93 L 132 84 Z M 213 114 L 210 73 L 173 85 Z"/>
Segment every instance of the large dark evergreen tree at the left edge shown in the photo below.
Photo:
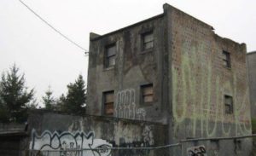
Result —
<path fill-rule="evenodd" d="M 27 110 L 35 107 L 32 102 L 34 90 L 25 85 L 24 73 L 12 66 L 9 72 L 3 72 L 0 81 L 0 122 L 25 122 Z"/>

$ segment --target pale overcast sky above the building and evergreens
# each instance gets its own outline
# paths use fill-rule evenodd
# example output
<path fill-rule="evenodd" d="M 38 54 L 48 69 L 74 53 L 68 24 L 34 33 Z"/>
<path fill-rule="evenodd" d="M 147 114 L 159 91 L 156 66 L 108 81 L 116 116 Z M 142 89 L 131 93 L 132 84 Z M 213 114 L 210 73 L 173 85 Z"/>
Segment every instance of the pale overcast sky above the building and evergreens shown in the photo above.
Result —
<path fill-rule="evenodd" d="M 163 12 L 169 3 L 205 21 L 224 38 L 256 50 L 255 0 L 23 0 L 44 20 L 89 49 L 89 34 L 105 34 Z M 87 79 L 84 51 L 46 26 L 19 0 L 0 0 L 0 72 L 16 63 L 38 102 L 50 84 L 54 95 L 67 92 L 79 74 Z"/>

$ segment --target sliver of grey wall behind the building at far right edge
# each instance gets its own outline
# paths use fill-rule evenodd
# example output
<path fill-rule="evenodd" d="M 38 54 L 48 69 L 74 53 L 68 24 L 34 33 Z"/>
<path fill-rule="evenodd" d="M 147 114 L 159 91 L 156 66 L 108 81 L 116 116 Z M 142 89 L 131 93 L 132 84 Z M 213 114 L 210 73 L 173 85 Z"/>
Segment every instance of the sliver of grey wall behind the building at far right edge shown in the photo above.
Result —
<path fill-rule="evenodd" d="M 256 124 L 256 52 L 247 54 L 247 72 L 249 78 L 251 113 Z M 254 131 L 256 132 L 256 131 Z"/>

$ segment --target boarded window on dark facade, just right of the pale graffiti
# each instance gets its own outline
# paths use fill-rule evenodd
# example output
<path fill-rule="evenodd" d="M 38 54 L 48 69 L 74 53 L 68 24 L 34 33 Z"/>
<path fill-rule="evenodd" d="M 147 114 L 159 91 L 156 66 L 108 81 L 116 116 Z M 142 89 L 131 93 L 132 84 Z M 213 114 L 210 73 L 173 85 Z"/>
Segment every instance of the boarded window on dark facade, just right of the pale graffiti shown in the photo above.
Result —
<path fill-rule="evenodd" d="M 151 103 L 153 102 L 153 84 L 146 84 L 141 86 L 142 90 L 142 102 Z"/>

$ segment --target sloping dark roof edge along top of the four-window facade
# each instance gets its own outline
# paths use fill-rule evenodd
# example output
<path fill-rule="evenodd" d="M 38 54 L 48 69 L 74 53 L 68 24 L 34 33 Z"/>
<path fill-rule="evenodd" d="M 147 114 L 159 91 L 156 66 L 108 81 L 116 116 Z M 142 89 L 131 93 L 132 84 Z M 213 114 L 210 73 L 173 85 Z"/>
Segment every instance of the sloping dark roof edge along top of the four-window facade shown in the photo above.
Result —
<path fill-rule="evenodd" d="M 146 19 L 146 20 L 141 20 L 141 21 L 139 21 L 139 22 L 137 22 L 137 23 L 134 23 L 134 24 L 132 24 L 132 25 L 130 25 L 130 26 L 125 26 L 125 27 L 120 28 L 120 29 L 118 29 L 118 30 L 116 30 L 116 31 L 108 32 L 108 33 L 106 33 L 106 34 L 104 34 L 104 35 L 101 35 L 101 36 L 99 36 L 99 37 L 92 38 L 92 39 L 90 39 L 90 41 L 96 41 L 96 40 L 98 40 L 98 39 L 100 39 L 100 38 L 104 38 L 104 37 L 106 37 L 106 36 L 108 36 L 108 35 L 112 35 L 113 33 L 122 32 L 122 31 L 125 30 L 125 29 L 131 28 L 131 27 L 134 27 L 134 26 L 138 26 L 138 25 L 140 25 L 140 24 L 142 24 L 142 23 L 144 23 L 144 22 L 147 22 L 147 21 L 150 21 L 150 20 L 154 20 L 154 19 L 159 19 L 159 18 L 163 17 L 164 15 L 165 15 L 164 13 L 162 13 L 162 14 L 157 14 L 157 15 L 155 15 L 155 16 L 153 16 L 153 17 L 150 17 L 150 18 L 148 18 L 148 19 Z"/>

